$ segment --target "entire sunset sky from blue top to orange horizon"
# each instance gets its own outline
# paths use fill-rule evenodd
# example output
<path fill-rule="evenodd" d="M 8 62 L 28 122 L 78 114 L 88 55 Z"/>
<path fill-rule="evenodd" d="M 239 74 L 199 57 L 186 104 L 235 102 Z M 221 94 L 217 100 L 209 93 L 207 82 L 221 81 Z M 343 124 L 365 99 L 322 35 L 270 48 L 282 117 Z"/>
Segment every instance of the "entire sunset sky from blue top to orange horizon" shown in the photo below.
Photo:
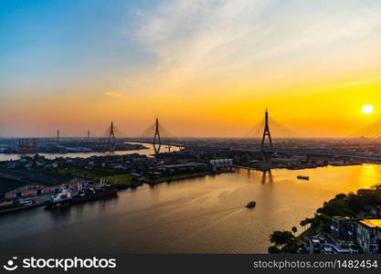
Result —
<path fill-rule="evenodd" d="M 243 137 L 266 108 L 303 137 L 381 119 L 381 1 L 0 1 L 1 137 Z"/>

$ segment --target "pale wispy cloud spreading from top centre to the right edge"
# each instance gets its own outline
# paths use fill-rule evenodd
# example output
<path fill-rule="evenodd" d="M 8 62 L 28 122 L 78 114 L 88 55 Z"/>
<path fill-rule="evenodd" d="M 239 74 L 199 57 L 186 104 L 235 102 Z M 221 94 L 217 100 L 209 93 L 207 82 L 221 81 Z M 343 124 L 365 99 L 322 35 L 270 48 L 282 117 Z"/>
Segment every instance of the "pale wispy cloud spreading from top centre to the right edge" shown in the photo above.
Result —
<path fill-rule="evenodd" d="M 157 63 L 135 78 L 136 85 L 175 90 L 195 82 L 261 80 L 266 73 L 290 73 L 284 68 L 298 59 L 310 68 L 321 66 L 345 37 L 351 38 L 347 43 L 361 42 L 353 38 L 381 26 L 378 13 L 361 5 L 287 3 L 164 0 L 144 10 L 134 37 Z M 337 51 L 344 61 L 350 59 L 345 54 L 351 45 L 345 46 L 346 51 Z"/>

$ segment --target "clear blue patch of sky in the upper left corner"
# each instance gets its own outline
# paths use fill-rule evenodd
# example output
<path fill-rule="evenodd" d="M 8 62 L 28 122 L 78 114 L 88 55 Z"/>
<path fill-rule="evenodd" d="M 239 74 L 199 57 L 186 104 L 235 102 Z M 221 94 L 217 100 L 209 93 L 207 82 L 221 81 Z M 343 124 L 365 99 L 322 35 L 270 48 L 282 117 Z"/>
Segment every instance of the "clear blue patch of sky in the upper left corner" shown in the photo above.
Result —
<path fill-rule="evenodd" d="M 97 78 L 105 71 L 116 77 L 144 63 L 138 45 L 122 33 L 133 24 L 132 9 L 144 5 L 121 0 L 2 0 L 2 92 L 30 89 L 20 81 L 36 85 L 30 89 L 34 91 L 47 78 L 59 85 L 68 79 L 74 84 Z"/>

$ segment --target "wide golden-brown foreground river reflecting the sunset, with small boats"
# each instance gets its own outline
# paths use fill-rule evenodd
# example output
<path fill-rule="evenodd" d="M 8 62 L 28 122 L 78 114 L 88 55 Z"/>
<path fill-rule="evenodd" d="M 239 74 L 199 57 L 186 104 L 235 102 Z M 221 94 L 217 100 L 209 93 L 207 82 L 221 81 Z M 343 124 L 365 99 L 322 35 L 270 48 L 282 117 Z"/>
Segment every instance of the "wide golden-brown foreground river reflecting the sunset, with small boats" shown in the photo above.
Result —
<path fill-rule="evenodd" d="M 380 182 L 381 166 L 364 164 L 272 170 L 272 180 L 265 181 L 261 172 L 238 169 L 144 184 L 64 210 L 39 207 L 0 216 L 0 252 L 266 253 L 273 230 L 295 226 L 301 232 L 300 221 L 325 200 Z M 253 199 L 257 206 L 245 208 Z"/>

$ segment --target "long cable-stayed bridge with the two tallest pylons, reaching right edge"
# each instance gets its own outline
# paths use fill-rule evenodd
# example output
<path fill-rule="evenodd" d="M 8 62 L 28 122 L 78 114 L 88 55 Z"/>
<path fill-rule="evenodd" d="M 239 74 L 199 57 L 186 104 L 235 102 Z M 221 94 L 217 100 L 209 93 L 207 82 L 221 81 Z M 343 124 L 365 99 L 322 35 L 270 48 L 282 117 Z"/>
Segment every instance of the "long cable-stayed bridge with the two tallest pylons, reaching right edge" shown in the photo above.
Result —
<path fill-rule="evenodd" d="M 274 137 L 272 128 L 278 128 L 282 132 L 282 138 Z M 164 132 L 164 134 L 162 133 Z M 282 145 L 279 146 L 277 143 L 280 142 L 290 142 L 292 140 L 302 140 L 296 133 L 292 132 L 285 126 L 282 126 L 279 122 L 270 119 L 269 111 L 265 111 L 265 117 L 260 121 L 256 127 L 250 132 L 261 132 L 260 136 L 245 137 L 245 139 L 251 140 L 251 146 L 248 148 L 235 148 L 230 146 L 223 145 L 196 145 L 195 143 L 182 142 L 181 139 L 176 138 L 175 135 L 170 134 L 164 126 L 159 122 L 158 119 L 142 134 L 141 137 L 137 138 L 127 138 L 129 142 L 144 142 L 152 143 L 154 152 L 160 153 L 160 147 L 166 145 L 167 147 L 177 146 L 181 148 L 187 148 L 191 150 L 199 150 L 206 152 L 241 152 L 241 153 L 262 153 L 263 161 L 270 162 L 270 157 L 274 153 L 281 154 L 305 154 L 305 155 L 316 155 L 316 156 L 331 156 L 331 157 L 340 157 L 340 158 L 354 158 L 370 161 L 381 161 L 380 154 L 361 154 L 361 153 L 342 153 L 338 151 L 322 151 L 322 150 L 311 150 L 311 149 L 287 149 L 282 148 Z M 153 136 L 153 137 L 150 137 Z M 274 141 L 275 140 L 275 141 Z M 278 140 L 278 142 L 277 142 Z M 280 142 L 279 142 L 280 141 Z M 380 145 L 381 144 L 381 121 L 357 131 L 344 139 L 339 139 L 333 142 L 333 146 L 337 149 L 352 145 L 353 142 L 358 146 L 364 145 Z M 381 148 L 381 146 L 380 146 Z M 336 150 L 337 150 L 336 149 Z"/>

